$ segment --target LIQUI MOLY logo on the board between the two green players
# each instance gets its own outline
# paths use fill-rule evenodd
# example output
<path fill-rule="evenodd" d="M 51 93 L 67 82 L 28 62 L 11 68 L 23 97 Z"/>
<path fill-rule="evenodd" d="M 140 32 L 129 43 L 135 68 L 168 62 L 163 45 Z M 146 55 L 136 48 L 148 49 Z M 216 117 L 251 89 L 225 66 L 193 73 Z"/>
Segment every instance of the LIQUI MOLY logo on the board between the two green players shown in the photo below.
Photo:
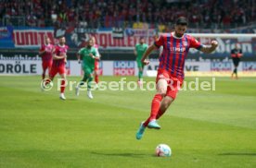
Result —
<path fill-rule="evenodd" d="M 134 61 L 115 61 L 114 75 L 115 76 L 134 76 L 135 72 Z"/>

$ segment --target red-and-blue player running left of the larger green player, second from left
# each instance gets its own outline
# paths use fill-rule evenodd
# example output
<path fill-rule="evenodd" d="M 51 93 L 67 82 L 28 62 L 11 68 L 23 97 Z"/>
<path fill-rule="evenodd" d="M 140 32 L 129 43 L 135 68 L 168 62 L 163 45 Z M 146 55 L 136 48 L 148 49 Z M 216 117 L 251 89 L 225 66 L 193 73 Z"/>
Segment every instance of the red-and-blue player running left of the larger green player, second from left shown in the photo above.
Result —
<path fill-rule="evenodd" d="M 53 54 L 53 65 L 50 70 L 50 80 L 47 80 L 45 83 L 45 85 L 47 85 L 49 82 L 53 81 L 57 73 L 59 74 L 61 78 L 59 98 L 61 100 L 66 100 L 64 90 L 66 87 L 66 62 L 69 46 L 65 43 L 65 37 L 60 37 L 58 39 L 58 45 L 55 46 L 55 51 Z"/>

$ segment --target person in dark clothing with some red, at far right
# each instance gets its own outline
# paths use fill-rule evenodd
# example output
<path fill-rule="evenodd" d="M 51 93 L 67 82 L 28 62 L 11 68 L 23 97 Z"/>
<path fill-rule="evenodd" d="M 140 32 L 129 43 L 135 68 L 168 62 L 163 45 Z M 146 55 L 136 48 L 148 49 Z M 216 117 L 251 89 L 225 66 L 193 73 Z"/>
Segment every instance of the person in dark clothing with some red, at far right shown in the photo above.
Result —
<path fill-rule="evenodd" d="M 239 44 L 236 43 L 235 48 L 231 50 L 231 57 L 232 57 L 233 64 L 234 64 L 234 70 L 233 70 L 233 73 L 231 75 L 231 78 L 234 78 L 234 75 L 236 75 L 236 78 L 238 78 L 238 76 L 237 76 L 237 67 L 239 66 L 240 58 L 242 56 L 243 56 L 242 49 L 240 49 Z"/>

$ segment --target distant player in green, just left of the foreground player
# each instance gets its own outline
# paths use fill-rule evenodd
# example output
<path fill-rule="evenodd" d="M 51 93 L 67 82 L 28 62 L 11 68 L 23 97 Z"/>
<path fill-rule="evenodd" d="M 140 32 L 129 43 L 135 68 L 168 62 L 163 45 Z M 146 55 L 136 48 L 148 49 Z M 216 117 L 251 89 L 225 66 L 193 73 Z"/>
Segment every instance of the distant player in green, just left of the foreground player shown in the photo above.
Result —
<path fill-rule="evenodd" d="M 138 85 L 141 86 L 143 84 L 143 68 L 144 64 L 141 62 L 141 58 L 143 54 L 147 51 L 147 43 L 145 43 L 145 39 L 141 37 L 139 39 L 139 43 L 135 45 L 134 55 L 136 56 L 136 62 L 138 66 Z"/>

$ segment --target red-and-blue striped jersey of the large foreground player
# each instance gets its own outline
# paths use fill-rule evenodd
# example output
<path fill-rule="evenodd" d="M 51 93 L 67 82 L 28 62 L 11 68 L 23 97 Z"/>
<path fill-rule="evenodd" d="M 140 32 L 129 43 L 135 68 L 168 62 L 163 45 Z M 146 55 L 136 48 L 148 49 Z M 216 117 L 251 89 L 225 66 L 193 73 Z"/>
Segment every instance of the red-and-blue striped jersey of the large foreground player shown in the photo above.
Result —
<path fill-rule="evenodd" d="M 168 71 L 174 78 L 184 78 L 184 66 L 189 48 L 200 50 L 202 44 L 194 37 L 184 34 L 177 38 L 174 32 L 160 35 L 155 42 L 157 47 L 163 46 L 160 55 L 159 70 Z"/>

